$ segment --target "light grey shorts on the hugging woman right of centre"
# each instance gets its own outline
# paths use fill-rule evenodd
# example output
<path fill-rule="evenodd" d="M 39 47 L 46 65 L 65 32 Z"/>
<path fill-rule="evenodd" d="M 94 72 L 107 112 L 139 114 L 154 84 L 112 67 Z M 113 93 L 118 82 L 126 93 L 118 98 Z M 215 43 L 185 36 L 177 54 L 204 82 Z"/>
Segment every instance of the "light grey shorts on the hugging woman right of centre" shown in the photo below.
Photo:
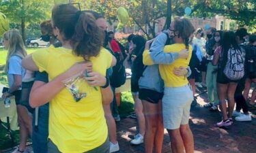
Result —
<path fill-rule="evenodd" d="M 162 116 L 165 129 L 179 129 L 188 124 L 193 92 L 189 85 L 182 87 L 165 87 L 162 98 Z"/>

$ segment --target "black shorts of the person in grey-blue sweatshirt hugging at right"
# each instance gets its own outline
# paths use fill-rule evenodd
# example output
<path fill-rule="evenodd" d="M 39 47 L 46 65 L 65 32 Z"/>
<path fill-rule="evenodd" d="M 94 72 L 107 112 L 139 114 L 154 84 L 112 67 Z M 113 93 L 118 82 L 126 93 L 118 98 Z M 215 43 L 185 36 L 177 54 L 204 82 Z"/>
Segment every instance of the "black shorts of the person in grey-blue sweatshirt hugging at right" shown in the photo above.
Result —
<path fill-rule="evenodd" d="M 164 93 L 160 93 L 154 90 L 140 88 L 139 89 L 139 99 L 148 101 L 150 103 L 158 103 L 162 99 Z"/>

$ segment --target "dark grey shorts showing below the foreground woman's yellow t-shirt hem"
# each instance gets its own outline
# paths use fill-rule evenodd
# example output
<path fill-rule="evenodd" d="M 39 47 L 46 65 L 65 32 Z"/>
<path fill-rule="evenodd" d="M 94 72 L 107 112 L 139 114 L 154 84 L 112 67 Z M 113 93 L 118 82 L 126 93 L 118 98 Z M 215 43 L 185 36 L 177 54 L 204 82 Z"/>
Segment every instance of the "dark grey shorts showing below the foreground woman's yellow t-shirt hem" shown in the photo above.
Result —
<path fill-rule="evenodd" d="M 49 139 L 48 141 L 48 152 L 49 153 L 61 153 L 55 143 Z M 97 148 L 94 148 L 93 150 L 89 150 L 84 153 L 109 153 L 109 137 L 106 138 L 106 141 L 98 146 Z"/>

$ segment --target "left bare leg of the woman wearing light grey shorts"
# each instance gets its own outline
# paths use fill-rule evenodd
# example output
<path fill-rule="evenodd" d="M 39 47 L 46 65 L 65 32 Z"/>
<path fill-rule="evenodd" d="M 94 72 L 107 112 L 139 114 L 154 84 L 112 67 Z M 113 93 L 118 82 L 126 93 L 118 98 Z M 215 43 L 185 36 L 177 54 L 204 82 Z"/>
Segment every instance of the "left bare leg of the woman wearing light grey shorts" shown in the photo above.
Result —
<path fill-rule="evenodd" d="M 180 134 L 180 129 L 167 129 L 167 131 L 171 139 L 171 151 L 173 153 L 184 153 L 184 143 L 182 140 L 182 135 Z"/>

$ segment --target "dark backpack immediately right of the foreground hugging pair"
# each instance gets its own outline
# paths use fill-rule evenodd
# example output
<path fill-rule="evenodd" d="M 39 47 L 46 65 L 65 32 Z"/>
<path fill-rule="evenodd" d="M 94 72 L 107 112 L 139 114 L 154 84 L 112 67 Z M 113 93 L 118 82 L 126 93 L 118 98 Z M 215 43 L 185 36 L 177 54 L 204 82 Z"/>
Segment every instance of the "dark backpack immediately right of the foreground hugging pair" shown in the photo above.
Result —
<path fill-rule="evenodd" d="M 112 87 L 119 88 L 126 83 L 126 67 L 124 67 L 123 61 L 119 59 L 119 55 L 114 54 L 117 58 L 117 64 L 112 67 L 113 73 L 110 76 L 110 84 Z"/>

